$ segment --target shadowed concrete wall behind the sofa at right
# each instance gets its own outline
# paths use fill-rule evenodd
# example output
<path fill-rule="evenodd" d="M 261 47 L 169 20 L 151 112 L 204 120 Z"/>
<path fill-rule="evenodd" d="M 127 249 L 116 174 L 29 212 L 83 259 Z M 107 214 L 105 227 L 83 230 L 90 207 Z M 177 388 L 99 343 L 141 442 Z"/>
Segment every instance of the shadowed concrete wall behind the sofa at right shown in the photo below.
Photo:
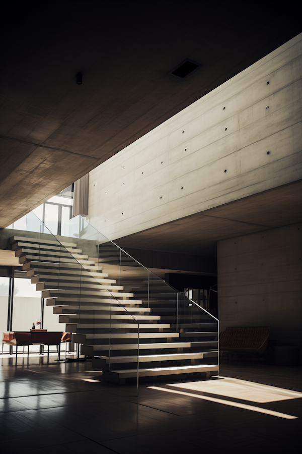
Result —
<path fill-rule="evenodd" d="M 302 347 L 302 224 L 218 241 L 218 318 Z"/>

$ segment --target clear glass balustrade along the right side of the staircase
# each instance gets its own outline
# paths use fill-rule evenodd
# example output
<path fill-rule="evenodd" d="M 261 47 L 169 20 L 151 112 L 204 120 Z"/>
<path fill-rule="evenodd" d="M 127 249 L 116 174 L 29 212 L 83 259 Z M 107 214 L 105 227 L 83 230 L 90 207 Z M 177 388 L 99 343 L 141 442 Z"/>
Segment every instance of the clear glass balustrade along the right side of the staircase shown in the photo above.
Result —
<path fill-rule="evenodd" d="M 139 319 L 140 332 L 139 376 L 148 376 L 146 368 L 150 374 L 153 369 L 163 369 L 165 374 L 165 368 L 173 367 L 180 376 L 183 367 L 192 374 L 188 377 L 197 377 L 207 365 L 208 376 L 218 373 L 218 320 L 213 315 L 141 265 L 81 216 L 66 222 L 64 229 L 74 238 L 88 242 L 90 246 L 84 243 L 83 250 L 85 247 L 94 248 L 90 253 L 98 258 L 102 273 L 114 280 L 114 283 L 109 282 L 111 294 L 118 298 L 115 292 L 120 292 L 123 296 L 119 303 L 127 304 L 131 313 L 136 311 L 134 317 Z M 113 290 L 114 286 L 118 288 Z M 114 329 L 111 334 L 121 328 Z M 131 330 L 128 333 L 127 343 L 130 342 Z M 111 342 L 115 341 L 112 339 Z M 123 368 L 131 369 L 134 358 L 130 358 L 130 350 L 123 355 L 112 351 L 111 355 L 124 356 Z M 111 367 L 118 370 L 118 365 Z M 196 373 L 193 372 L 195 369 Z M 155 370 L 154 374 L 157 373 L 159 371 Z"/>

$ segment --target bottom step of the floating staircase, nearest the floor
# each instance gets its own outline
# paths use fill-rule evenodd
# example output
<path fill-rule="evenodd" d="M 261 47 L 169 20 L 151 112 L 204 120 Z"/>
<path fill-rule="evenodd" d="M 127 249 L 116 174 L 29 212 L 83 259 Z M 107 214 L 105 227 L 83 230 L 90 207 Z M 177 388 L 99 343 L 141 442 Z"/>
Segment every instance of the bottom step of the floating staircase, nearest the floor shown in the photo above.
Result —
<path fill-rule="evenodd" d="M 150 369 L 139 369 L 139 377 L 154 377 L 154 376 L 165 376 L 165 375 L 176 375 L 176 374 L 188 374 L 193 372 L 214 372 L 218 373 L 218 366 L 212 364 L 198 364 L 192 366 L 174 366 L 174 367 L 155 367 Z M 207 376 L 211 374 L 207 374 Z M 110 381 L 111 383 L 121 383 L 121 380 L 126 378 L 137 377 L 137 369 L 126 369 L 126 370 L 104 370 L 103 380 Z"/>

